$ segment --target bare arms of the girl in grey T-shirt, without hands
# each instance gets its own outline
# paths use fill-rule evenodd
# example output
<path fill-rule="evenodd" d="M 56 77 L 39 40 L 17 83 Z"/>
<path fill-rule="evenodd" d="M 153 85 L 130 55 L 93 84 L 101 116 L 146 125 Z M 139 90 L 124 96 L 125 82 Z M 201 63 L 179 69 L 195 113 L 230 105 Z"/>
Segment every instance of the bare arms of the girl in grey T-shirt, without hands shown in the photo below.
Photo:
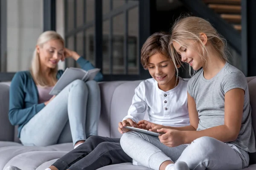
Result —
<path fill-rule="evenodd" d="M 195 110 L 195 100 L 188 94 L 189 112 Z M 200 131 L 183 131 L 183 143 L 191 143 L 193 140 L 202 136 L 209 136 L 222 142 L 230 142 L 236 140 L 241 128 L 241 121 L 244 107 L 244 90 L 234 88 L 225 94 L 224 105 L 224 125 L 211 127 Z M 190 115 L 189 115 L 190 118 Z M 196 129 L 198 125 L 191 122 Z"/>

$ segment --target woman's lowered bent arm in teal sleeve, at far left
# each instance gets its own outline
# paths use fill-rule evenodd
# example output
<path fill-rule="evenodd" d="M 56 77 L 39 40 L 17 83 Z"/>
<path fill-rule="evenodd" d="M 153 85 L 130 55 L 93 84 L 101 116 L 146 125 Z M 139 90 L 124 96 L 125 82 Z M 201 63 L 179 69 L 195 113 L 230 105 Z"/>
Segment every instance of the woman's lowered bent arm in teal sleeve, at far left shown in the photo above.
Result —
<path fill-rule="evenodd" d="M 18 72 L 12 79 L 9 91 L 9 121 L 12 125 L 22 125 L 28 122 L 36 113 L 44 108 L 44 103 L 32 105 L 24 108 L 25 93 L 22 73 Z"/>

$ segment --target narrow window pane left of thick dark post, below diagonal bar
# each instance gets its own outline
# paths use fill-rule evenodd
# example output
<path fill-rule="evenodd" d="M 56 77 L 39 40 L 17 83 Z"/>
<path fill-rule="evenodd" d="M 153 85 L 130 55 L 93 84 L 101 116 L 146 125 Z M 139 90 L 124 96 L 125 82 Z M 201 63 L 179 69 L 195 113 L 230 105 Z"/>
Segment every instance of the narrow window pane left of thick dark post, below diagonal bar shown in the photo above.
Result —
<path fill-rule="evenodd" d="M 94 60 L 94 27 L 86 30 L 85 58 L 95 66 Z"/>

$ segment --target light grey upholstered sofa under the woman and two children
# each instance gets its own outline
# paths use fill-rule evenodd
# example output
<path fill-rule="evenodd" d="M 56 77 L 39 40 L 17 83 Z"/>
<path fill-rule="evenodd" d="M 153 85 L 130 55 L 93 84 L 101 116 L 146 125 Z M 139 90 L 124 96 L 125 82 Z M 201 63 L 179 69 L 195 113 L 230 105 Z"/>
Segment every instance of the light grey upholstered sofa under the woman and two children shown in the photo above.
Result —
<path fill-rule="evenodd" d="M 248 77 L 250 104 L 254 132 L 256 134 L 256 77 Z M 99 135 L 120 137 L 118 122 L 127 114 L 134 95 L 134 89 L 141 81 L 101 82 L 101 117 Z M 0 170 L 9 165 L 22 170 L 44 170 L 55 160 L 73 149 L 72 143 L 55 144 L 48 147 L 26 147 L 17 139 L 17 127 L 8 119 L 9 83 L 0 83 Z M 256 170 L 256 153 L 250 154 L 250 167 L 245 170 Z M 149 170 L 131 163 L 109 165 L 99 170 Z"/>

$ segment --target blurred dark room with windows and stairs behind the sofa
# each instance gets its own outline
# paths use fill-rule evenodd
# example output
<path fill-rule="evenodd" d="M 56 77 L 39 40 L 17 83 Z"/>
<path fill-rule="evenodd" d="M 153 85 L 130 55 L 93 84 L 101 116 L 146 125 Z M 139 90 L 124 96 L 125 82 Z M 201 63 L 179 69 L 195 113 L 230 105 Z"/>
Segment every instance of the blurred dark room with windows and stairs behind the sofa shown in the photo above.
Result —
<path fill-rule="evenodd" d="M 181 14 L 203 17 L 227 39 L 230 62 L 256 76 L 255 0 L 0 0 L 0 82 L 28 70 L 38 36 L 55 30 L 101 68 L 105 81 L 146 79 L 140 50 Z M 73 59 L 59 68 L 79 67 Z M 188 78 L 187 67 L 180 76 Z"/>

